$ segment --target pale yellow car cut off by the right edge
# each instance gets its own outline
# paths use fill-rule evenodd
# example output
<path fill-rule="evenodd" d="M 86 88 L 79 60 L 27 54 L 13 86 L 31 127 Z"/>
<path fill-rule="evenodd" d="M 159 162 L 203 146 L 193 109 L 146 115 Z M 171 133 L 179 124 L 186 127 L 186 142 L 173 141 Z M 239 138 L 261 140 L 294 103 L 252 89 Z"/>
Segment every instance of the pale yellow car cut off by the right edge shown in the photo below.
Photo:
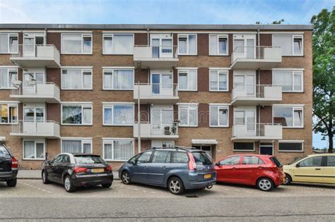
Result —
<path fill-rule="evenodd" d="M 335 154 L 313 154 L 283 166 L 286 180 L 291 182 L 335 184 Z"/>

